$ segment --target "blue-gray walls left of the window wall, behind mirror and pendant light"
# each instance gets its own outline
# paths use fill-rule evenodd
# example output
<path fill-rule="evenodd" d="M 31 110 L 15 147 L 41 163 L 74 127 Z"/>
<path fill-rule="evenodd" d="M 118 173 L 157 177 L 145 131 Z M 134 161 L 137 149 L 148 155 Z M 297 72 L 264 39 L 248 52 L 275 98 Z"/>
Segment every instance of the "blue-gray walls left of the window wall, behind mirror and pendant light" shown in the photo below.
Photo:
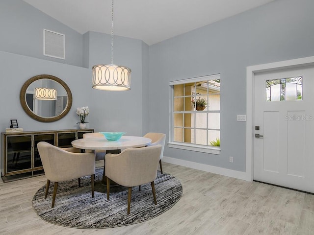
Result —
<path fill-rule="evenodd" d="M 25 131 L 78 128 L 76 109 L 82 106 L 89 106 L 87 127 L 95 131 L 125 131 L 140 136 L 145 116 L 147 130 L 148 115 L 142 112 L 142 73 L 148 79 L 148 68 L 142 68 L 142 56 L 146 56 L 148 64 L 148 46 L 141 40 L 114 39 L 114 62 L 132 70 L 131 91 L 116 93 L 91 88 L 92 65 L 111 62 L 110 35 L 81 35 L 23 0 L 0 1 L 0 28 L 0 98 L 7 111 L 0 119 L 1 132 L 9 127 L 10 119 L 18 119 Z M 65 34 L 66 60 L 43 56 L 44 28 Z M 42 123 L 22 110 L 20 89 L 27 79 L 38 74 L 59 77 L 70 87 L 73 105 L 65 118 Z"/>

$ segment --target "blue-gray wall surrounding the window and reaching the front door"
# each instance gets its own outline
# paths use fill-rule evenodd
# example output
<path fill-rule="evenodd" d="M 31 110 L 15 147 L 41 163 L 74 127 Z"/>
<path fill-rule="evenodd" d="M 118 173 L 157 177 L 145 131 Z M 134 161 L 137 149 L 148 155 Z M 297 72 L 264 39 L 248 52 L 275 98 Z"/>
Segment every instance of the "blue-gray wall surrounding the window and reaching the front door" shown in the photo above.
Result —
<path fill-rule="evenodd" d="M 167 145 L 164 155 L 245 171 L 246 123 L 236 115 L 246 114 L 246 67 L 313 56 L 313 9 L 313 0 L 276 0 L 151 46 L 151 131 L 168 133 L 169 81 L 221 74 L 220 156 Z"/>

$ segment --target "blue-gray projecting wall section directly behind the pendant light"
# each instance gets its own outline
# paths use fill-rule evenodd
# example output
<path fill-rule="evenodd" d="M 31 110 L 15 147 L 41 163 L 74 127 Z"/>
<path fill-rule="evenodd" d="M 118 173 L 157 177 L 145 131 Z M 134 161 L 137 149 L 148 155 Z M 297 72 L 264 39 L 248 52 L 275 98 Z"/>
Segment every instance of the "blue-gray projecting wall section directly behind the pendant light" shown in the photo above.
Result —
<path fill-rule="evenodd" d="M 111 63 L 111 36 L 89 32 L 88 41 L 90 74 L 86 79 L 91 84 L 91 67 L 97 64 Z M 110 92 L 92 89 L 90 85 L 88 87 L 90 112 L 93 112 L 91 123 L 95 123 L 96 131 L 122 131 L 127 132 L 128 135 L 141 136 L 143 120 L 142 41 L 115 36 L 113 64 L 131 68 L 131 90 Z"/>

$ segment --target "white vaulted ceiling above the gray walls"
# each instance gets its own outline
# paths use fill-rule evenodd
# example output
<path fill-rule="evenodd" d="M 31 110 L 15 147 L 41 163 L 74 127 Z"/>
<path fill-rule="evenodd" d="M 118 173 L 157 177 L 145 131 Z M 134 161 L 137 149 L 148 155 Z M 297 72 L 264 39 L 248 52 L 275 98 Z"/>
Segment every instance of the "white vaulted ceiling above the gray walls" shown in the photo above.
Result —
<path fill-rule="evenodd" d="M 81 34 L 111 33 L 111 0 L 24 0 Z M 114 35 L 152 45 L 273 0 L 115 0 Z"/>

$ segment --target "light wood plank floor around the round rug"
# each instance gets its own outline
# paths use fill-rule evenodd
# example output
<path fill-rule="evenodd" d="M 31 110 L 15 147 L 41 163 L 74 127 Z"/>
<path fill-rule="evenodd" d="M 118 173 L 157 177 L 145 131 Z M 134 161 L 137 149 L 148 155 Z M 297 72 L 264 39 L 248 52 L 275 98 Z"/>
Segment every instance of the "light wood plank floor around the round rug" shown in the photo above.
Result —
<path fill-rule="evenodd" d="M 183 185 L 173 208 L 143 223 L 97 230 L 56 226 L 35 214 L 31 200 L 45 176 L 1 181 L 0 235 L 314 235 L 314 195 L 167 163 L 163 170 Z"/>

